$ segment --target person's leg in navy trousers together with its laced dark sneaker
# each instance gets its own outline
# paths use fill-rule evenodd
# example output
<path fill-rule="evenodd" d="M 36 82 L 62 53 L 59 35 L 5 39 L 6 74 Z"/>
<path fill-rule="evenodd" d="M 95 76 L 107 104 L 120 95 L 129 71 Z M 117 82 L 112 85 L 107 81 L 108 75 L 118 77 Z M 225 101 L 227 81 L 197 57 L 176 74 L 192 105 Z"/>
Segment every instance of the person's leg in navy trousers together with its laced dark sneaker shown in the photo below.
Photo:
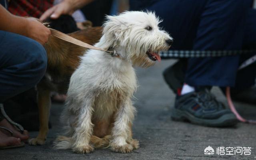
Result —
<path fill-rule="evenodd" d="M 208 0 L 193 50 L 241 50 L 250 4 L 250 0 Z M 172 118 L 210 126 L 236 124 L 236 116 L 206 86 L 234 86 L 239 59 L 240 56 L 188 59 L 185 82 L 199 91 L 177 96 Z"/>

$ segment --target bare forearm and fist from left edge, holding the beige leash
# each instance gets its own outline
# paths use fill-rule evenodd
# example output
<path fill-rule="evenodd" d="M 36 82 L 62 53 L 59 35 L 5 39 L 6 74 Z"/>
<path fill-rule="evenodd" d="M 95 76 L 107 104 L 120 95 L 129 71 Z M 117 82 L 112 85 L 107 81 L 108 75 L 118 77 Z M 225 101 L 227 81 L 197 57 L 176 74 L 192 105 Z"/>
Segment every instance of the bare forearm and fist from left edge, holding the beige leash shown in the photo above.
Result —
<path fill-rule="evenodd" d="M 38 41 L 47 42 L 51 32 L 34 18 L 15 16 L 0 5 L 0 30 L 20 34 Z"/>

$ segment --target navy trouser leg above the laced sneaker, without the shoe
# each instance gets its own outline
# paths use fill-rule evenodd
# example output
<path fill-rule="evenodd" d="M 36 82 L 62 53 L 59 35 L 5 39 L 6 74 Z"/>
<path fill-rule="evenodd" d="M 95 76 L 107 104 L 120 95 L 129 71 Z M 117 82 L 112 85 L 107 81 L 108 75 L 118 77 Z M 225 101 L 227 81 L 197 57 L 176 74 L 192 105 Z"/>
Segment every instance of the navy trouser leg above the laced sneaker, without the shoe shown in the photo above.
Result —
<path fill-rule="evenodd" d="M 194 50 L 241 50 L 250 0 L 209 0 L 200 17 Z M 234 86 L 239 56 L 190 58 L 190 86 Z"/>

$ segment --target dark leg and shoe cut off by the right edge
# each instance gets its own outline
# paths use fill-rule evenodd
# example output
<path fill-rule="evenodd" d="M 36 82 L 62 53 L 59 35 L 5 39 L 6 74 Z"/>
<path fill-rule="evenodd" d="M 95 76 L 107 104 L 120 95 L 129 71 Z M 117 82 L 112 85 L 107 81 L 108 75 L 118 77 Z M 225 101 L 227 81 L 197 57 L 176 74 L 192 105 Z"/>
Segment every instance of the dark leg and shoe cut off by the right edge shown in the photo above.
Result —
<path fill-rule="evenodd" d="M 245 23 L 245 35 L 243 39 L 244 50 L 256 50 L 256 10 L 250 9 L 247 12 Z M 240 57 L 240 64 L 253 54 L 244 54 Z M 238 70 L 236 75 L 236 84 L 230 88 L 232 99 L 240 102 L 256 104 L 256 63 Z M 224 89 L 222 89 L 224 90 Z"/>

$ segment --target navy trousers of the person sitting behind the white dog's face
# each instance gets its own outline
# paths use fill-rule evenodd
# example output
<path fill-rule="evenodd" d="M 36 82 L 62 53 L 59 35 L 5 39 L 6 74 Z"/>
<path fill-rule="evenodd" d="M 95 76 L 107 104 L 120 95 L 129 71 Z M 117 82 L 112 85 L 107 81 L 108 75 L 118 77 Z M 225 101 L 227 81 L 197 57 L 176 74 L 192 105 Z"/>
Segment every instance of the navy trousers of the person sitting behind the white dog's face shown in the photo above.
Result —
<path fill-rule="evenodd" d="M 152 10 L 163 19 L 160 26 L 174 38 L 174 50 L 242 50 L 245 44 L 256 43 L 256 10 L 251 4 L 251 0 L 130 0 L 131 10 Z M 256 68 L 237 74 L 240 61 L 240 56 L 189 58 L 185 82 L 248 87 L 255 82 Z"/>

